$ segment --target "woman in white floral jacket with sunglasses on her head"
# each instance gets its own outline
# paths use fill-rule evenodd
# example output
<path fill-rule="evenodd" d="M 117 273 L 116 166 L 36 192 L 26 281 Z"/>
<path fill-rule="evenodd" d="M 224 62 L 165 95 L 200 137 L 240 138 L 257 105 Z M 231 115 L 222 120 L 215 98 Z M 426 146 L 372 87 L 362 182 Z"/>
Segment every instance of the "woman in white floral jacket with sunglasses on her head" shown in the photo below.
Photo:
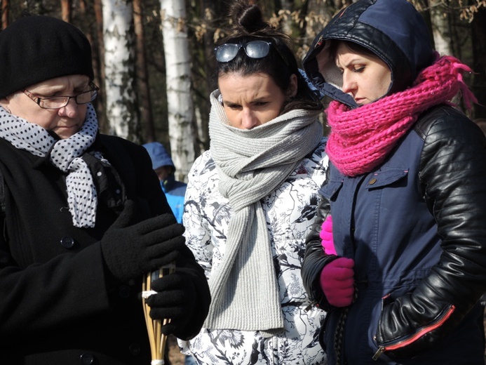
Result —
<path fill-rule="evenodd" d="M 328 162 L 323 107 L 258 6 L 236 1 L 230 15 L 215 48 L 210 150 L 189 173 L 183 218 L 212 304 L 182 351 L 208 365 L 325 364 L 324 312 L 306 311 L 300 278 Z"/>

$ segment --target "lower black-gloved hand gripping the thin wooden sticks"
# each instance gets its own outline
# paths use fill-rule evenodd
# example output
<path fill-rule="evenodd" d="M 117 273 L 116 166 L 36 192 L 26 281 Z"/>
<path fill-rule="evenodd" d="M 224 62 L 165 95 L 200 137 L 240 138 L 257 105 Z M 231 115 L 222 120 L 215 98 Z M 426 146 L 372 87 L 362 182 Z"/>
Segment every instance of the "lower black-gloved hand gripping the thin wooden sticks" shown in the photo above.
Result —
<path fill-rule="evenodd" d="M 191 279 L 177 272 L 168 274 L 151 282 L 151 290 L 157 293 L 147 298 L 152 319 L 170 319 L 170 323 L 161 327 L 168 335 L 184 332 L 198 305 L 196 288 Z"/>

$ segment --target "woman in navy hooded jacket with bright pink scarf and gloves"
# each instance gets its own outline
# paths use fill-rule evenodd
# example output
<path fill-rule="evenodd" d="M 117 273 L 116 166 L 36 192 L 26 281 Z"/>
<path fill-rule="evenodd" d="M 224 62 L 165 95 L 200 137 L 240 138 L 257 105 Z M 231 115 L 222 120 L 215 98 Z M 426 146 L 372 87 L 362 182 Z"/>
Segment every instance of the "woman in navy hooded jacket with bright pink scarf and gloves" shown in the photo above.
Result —
<path fill-rule="evenodd" d="M 433 51 L 406 0 L 344 8 L 304 69 L 333 99 L 302 265 L 330 364 L 484 365 L 486 138 L 451 102 L 475 100 L 471 69 Z"/>

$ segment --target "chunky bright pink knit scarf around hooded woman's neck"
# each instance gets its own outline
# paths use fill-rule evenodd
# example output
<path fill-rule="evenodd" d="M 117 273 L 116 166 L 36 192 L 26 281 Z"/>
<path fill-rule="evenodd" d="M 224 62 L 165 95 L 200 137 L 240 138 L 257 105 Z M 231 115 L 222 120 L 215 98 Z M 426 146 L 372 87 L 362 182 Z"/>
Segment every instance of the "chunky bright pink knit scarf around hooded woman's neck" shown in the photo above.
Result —
<path fill-rule="evenodd" d="M 326 151 L 332 164 L 348 176 L 361 175 L 382 164 L 396 142 L 412 128 L 421 112 L 450 102 L 461 90 L 468 108 L 477 102 L 462 79 L 472 70 L 457 58 L 436 54 L 411 88 L 370 104 L 349 109 L 332 101 L 326 110 L 331 133 Z"/>

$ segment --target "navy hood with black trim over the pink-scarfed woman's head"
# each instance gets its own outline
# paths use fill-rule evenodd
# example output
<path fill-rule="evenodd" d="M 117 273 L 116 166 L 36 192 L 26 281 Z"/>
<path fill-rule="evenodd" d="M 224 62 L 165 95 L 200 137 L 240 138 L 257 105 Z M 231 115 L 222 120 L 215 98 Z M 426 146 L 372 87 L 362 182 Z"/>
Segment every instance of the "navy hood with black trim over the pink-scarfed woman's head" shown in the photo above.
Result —
<path fill-rule="evenodd" d="M 387 95 L 412 85 L 434 60 L 426 23 L 412 4 L 406 0 L 358 0 L 337 13 L 316 36 L 303 62 L 307 77 L 321 93 L 350 106 L 356 102 L 340 90 L 342 75 L 329 57 L 332 39 L 368 48 L 389 66 Z"/>

